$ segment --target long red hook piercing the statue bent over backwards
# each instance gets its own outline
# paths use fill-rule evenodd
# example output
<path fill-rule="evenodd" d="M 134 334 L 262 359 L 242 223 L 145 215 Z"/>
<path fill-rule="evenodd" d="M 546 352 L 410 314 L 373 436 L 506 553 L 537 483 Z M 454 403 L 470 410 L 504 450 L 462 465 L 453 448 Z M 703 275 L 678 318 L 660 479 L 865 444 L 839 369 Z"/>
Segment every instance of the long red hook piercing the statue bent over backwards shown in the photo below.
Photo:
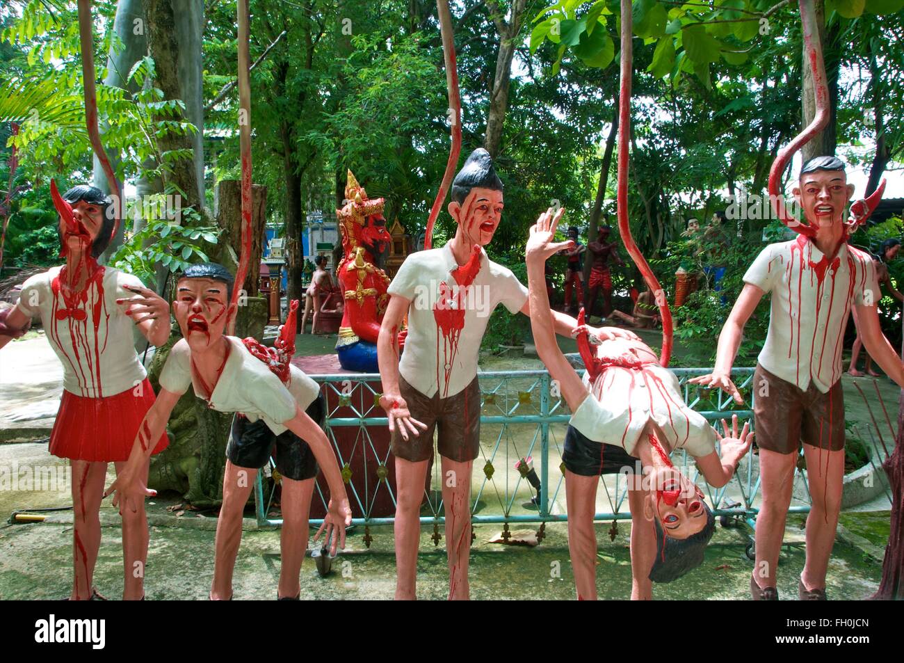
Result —
<path fill-rule="evenodd" d="M 656 279 L 653 270 L 643 254 L 634 242 L 631 234 L 631 224 L 627 217 L 627 163 L 628 137 L 631 135 L 631 68 L 633 55 L 631 52 L 632 37 L 632 8 L 631 0 L 621 0 L 621 81 L 618 94 L 618 185 L 617 185 L 617 215 L 618 232 L 625 249 L 631 260 L 634 260 L 637 269 L 643 275 L 646 285 L 653 291 L 659 314 L 663 318 L 663 349 L 659 354 L 659 363 L 669 365 L 672 357 L 672 311 L 669 309 L 668 300 L 659 280 Z"/>

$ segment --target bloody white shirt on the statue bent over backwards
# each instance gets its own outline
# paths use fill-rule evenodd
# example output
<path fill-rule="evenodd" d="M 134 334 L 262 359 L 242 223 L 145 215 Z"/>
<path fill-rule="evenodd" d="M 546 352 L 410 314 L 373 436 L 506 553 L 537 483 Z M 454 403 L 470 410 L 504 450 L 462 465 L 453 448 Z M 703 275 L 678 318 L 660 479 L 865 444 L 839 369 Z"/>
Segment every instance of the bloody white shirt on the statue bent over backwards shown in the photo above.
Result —
<path fill-rule="evenodd" d="M 634 452 L 651 421 L 669 449 L 683 449 L 694 458 L 716 450 L 718 436 L 700 412 L 684 403 L 678 378 L 660 365 L 642 368 L 607 366 L 593 387 L 584 375 L 589 395 L 571 415 L 570 424 L 589 440 Z"/>

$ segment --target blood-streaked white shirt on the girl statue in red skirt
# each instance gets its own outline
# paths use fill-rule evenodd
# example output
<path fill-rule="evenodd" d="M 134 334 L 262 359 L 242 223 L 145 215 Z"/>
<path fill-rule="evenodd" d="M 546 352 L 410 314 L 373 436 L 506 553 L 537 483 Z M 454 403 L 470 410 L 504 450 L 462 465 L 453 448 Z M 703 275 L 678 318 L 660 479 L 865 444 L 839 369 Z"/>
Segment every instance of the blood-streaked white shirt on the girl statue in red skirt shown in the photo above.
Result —
<path fill-rule="evenodd" d="M 62 387 L 87 398 L 102 398 L 133 389 L 145 377 L 145 367 L 135 351 L 135 323 L 126 315 L 119 298 L 133 297 L 123 286 L 141 287 L 141 281 L 124 271 L 104 267 L 99 282 L 86 288 L 84 300 L 67 308 L 54 280 L 61 267 L 35 274 L 25 281 L 17 304 L 28 317 L 41 317 L 53 352 L 62 363 Z"/>

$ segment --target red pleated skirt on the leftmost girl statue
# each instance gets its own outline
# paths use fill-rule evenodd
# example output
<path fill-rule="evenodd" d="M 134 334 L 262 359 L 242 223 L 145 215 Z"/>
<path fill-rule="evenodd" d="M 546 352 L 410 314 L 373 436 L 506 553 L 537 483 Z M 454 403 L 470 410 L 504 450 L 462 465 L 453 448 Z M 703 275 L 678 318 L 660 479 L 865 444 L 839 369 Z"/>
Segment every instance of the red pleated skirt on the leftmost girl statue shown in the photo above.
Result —
<path fill-rule="evenodd" d="M 135 445 L 138 427 L 154 404 L 151 383 L 145 378 L 138 390 L 103 398 L 87 398 L 63 391 L 60 412 L 51 432 L 50 452 L 59 458 L 112 463 L 125 461 Z M 154 453 L 166 449 L 166 435 Z"/>

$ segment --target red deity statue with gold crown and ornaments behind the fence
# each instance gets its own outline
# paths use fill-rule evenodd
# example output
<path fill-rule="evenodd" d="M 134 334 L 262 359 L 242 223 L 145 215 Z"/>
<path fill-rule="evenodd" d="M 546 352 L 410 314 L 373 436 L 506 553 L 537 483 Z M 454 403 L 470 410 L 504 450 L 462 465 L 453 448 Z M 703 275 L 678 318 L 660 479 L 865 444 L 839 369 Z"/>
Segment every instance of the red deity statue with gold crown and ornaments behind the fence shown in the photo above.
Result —
<path fill-rule="evenodd" d="M 364 187 L 348 171 L 345 202 L 336 210 L 344 251 L 336 277 L 344 292 L 345 310 L 336 352 L 347 371 L 377 373 L 377 336 L 389 295 L 390 278 L 380 263 L 392 238 L 383 218 L 383 199 L 368 199 Z"/>

